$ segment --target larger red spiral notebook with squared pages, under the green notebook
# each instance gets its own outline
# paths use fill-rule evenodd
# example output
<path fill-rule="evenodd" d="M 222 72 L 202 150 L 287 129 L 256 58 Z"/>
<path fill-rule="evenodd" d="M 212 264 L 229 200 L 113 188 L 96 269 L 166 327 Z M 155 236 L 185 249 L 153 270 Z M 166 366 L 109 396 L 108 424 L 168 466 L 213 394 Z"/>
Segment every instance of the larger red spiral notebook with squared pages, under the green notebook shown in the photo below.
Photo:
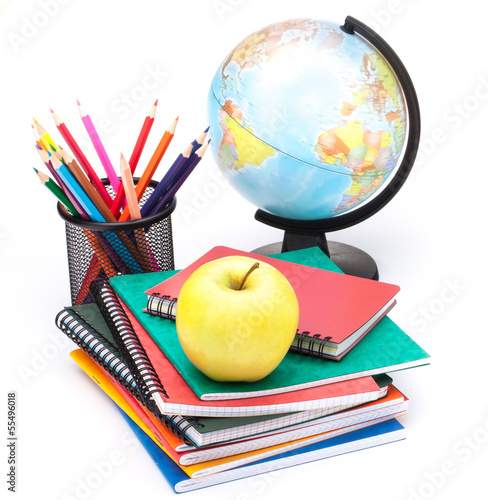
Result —
<path fill-rule="evenodd" d="M 331 386 L 320 386 L 301 391 L 286 392 L 281 395 L 262 396 L 252 399 L 238 399 L 232 401 L 202 401 L 200 400 L 185 380 L 169 362 L 169 360 L 154 345 L 160 354 L 157 358 L 157 371 L 144 347 L 142 346 L 134 327 L 140 329 L 137 320 L 126 311 L 117 295 L 106 282 L 94 283 L 91 293 L 95 297 L 97 305 L 110 328 L 115 343 L 117 344 L 119 356 L 117 364 L 109 365 L 111 371 L 117 373 L 132 374 L 132 379 L 124 375 L 122 382 L 127 386 L 139 389 L 140 399 L 145 402 L 154 412 L 154 405 L 162 415 L 185 415 L 185 416 L 255 416 L 282 414 L 294 411 L 313 410 L 317 408 L 337 407 L 342 404 L 361 404 L 380 397 L 382 389 L 369 377 L 334 384 Z M 82 308 L 83 306 L 79 306 Z M 95 338 L 92 325 L 87 328 L 87 323 L 76 324 L 73 327 L 73 315 L 62 312 L 58 315 L 58 326 L 75 337 L 80 347 L 88 347 L 92 357 L 96 359 L 102 351 L 94 349 L 94 346 L 86 340 Z M 134 326 L 133 326 L 134 325 Z M 100 335 L 97 336 L 100 341 Z M 106 344 L 107 349 L 110 348 Z M 112 348 L 113 352 L 114 351 Z M 126 363 L 126 365 L 123 365 Z M 110 371 L 107 370 L 107 371 Z M 159 377 L 161 375 L 161 378 Z M 117 377 L 118 378 L 118 377 Z M 162 382 L 163 381 L 163 382 Z M 224 384 L 225 385 L 225 384 Z M 134 391 L 131 391 L 134 392 Z M 157 413 L 157 412 L 156 412 Z"/>

